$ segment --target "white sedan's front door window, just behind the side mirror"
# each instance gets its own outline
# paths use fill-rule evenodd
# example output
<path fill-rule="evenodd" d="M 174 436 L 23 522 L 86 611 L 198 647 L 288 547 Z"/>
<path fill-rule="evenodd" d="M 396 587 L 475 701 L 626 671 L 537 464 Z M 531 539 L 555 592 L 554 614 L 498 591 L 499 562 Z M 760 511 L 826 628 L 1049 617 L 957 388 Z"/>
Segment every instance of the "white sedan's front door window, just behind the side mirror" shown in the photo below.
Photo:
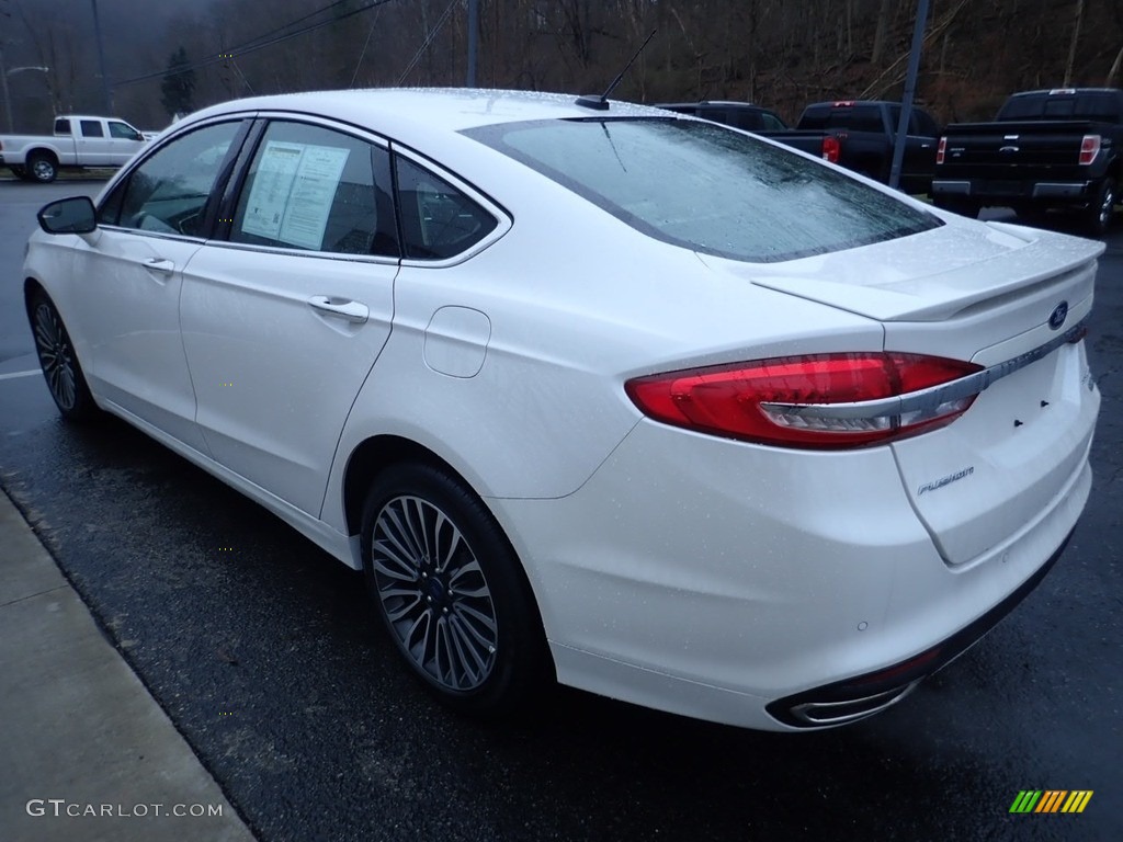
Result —
<path fill-rule="evenodd" d="M 207 126 L 161 146 L 110 193 L 99 221 L 141 231 L 201 236 L 207 201 L 240 125 Z"/>

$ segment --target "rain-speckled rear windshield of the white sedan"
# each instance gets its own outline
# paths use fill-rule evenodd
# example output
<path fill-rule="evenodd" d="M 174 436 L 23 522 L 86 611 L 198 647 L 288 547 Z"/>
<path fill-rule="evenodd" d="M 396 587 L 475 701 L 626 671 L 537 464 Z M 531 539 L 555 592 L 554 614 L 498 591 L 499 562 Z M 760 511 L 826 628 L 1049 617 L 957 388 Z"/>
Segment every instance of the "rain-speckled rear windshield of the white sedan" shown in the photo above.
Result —
<path fill-rule="evenodd" d="M 542 120 L 464 134 L 650 237 L 736 260 L 791 260 L 942 225 L 831 167 L 709 122 Z"/>

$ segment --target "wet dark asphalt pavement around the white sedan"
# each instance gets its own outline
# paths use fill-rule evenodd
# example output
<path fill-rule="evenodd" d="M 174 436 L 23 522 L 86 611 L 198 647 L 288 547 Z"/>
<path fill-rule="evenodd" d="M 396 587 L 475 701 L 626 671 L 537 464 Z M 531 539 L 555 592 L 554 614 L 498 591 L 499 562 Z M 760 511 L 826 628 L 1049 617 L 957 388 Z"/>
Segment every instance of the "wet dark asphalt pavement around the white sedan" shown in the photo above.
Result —
<path fill-rule="evenodd" d="M 0 331 L 18 304 L 12 220 L 34 225 L 12 186 L 35 207 L 65 194 L 0 184 Z M 453 715 L 399 666 L 360 576 L 126 424 L 63 424 L 38 377 L 0 379 L 0 484 L 261 840 L 1115 842 L 1123 234 L 1097 295 L 1096 478 L 1069 549 L 979 646 L 837 731 L 738 731 L 567 689 L 520 721 Z M 34 367 L 29 333 L 0 348 L 0 377 Z M 1094 795 L 1079 815 L 1010 814 L 1024 789 Z"/>

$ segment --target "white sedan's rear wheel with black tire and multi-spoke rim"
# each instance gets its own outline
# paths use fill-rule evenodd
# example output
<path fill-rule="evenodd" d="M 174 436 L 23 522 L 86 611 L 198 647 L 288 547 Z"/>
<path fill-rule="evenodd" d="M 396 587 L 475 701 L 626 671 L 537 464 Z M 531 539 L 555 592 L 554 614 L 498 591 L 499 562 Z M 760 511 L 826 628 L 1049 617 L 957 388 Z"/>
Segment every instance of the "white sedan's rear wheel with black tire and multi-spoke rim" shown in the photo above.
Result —
<path fill-rule="evenodd" d="M 402 658 L 450 707 L 517 711 L 549 658 L 522 567 L 464 483 L 426 464 L 380 474 L 363 509 L 363 567 Z"/>

